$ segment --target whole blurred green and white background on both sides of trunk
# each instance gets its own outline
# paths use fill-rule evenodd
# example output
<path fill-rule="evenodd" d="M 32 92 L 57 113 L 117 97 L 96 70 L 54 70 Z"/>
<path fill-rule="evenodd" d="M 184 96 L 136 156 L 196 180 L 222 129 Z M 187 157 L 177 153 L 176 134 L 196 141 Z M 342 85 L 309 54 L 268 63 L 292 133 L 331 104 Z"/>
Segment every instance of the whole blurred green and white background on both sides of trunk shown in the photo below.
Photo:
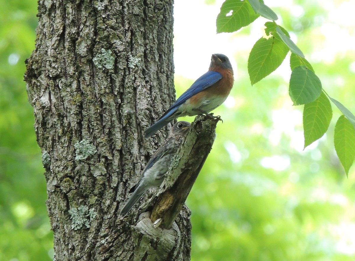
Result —
<path fill-rule="evenodd" d="M 303 106 L 292 106 L 288 96 L 288 58 L 251 86 L 247 59 L 267 20 L 216 35 L 222 2 L 174 5 L 177 95 L 207 71 L 212 53 L 228 55 L 235 71 L 230 97 L 214 111 L 224 122 L 186 202 L 191 259 L 354 260 L 355 168 L 346 178 L 333 145 L 340 112 L 333 106 L 326 135 L 303 150 Z M 265 3 L 323 88 L 355 113 L 355 1 Z M 37 2 L 0 0 L 0 6 L 0 260 L 51 260 L 41 153 L 23 81 L 24 60 L 34 49 Z"/>

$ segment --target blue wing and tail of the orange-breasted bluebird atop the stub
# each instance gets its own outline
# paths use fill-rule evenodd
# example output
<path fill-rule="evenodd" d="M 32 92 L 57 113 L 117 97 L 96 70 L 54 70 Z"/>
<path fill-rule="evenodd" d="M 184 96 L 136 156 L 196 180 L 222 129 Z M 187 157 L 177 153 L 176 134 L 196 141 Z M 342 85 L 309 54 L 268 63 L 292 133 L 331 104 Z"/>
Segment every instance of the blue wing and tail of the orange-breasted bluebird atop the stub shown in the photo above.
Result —
<path fill-rule="evenodd" d="M 156 123 L 146 129 L 146 131 L 144 131 L 144 133 L 146 134 L 145 137 L 150 137 L 162 127 L 164 127 L 166 124 L 168 124 L 169 121 L 178 118 L 180 113 L 177 113 L 177 110 L 181 104 L 183 104 L 186 100 L 199 93 L 200 91 L 203 91 L 207 87 L 217 83 L 217 81 L 219 81 L 220 79 L 222 79 L 222 74 L 218 72 L 208 71 L 207 73 L 203 74 L 195 81 L 195 83 L 191 85 L 189 89 L 182 93 L 178 100 L 176 100 L 173 105 L 171 105 L 170 108 L 166 110 L 166 112 L 162 115 L 162 117 L 160 117 L 160 119 Z"/>

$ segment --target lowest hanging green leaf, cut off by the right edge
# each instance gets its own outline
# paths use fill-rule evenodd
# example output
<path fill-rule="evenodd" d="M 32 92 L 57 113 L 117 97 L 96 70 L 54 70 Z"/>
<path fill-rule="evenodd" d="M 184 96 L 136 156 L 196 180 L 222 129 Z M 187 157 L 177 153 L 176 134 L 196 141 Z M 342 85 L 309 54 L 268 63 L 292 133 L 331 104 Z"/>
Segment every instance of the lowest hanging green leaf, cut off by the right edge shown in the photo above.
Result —
<path fill-rule="evenodd" d="M 355 129 L 344 115 L 335 124 L 334 146 L 347 177 L 355 157 Z"/>

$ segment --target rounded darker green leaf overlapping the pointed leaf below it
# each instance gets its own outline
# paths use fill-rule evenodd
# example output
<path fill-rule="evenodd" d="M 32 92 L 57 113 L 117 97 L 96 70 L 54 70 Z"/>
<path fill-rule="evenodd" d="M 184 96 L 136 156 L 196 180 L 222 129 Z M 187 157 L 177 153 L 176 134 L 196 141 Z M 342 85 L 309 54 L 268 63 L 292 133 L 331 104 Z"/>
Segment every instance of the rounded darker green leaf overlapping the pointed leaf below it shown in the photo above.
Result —
<path fill-rule="evenodd" d="M 293 69 L 289 95 L 294 105 L 306 104 L 316 100 L 321 91 L 321 81 L 310 69 L 303 65 Z"/>

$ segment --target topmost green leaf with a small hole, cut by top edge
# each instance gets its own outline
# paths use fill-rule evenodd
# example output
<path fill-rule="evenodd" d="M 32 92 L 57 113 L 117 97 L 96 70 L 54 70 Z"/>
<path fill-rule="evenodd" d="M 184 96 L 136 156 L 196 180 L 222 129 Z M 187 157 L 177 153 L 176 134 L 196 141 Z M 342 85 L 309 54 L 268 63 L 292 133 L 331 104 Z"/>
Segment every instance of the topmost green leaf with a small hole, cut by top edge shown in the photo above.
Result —
<path fill-rule="evenodd" d="M 258 18 L 248 1 L 226 0 L 217 16 L 217 33 L 231 33 Z"/>

